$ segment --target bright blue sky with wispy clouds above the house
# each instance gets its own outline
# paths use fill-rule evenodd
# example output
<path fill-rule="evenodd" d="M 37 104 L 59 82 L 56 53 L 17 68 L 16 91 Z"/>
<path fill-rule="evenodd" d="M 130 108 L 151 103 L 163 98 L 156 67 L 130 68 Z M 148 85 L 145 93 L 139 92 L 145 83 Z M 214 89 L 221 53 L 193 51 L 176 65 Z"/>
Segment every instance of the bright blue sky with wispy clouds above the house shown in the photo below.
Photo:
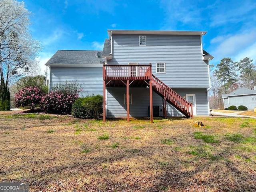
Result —
<path fill-rule="evenodd" d="M 231 57 L 256 63 L 255 0 L 24 0 L 44 64 L 57 50 L 102 50 L 107 29 L 207 31 L 212 64 Z"/>

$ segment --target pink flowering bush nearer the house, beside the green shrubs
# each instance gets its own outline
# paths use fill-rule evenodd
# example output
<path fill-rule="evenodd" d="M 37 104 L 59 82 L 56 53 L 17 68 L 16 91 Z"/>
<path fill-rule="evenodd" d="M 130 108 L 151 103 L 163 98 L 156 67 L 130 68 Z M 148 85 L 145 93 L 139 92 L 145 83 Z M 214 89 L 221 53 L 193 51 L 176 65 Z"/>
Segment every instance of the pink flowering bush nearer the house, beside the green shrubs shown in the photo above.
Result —
<path fill-rule="evenodd" d="M 42 98 L 41 106 L 56 114 L 71 114 L 72 104 L 78 94 L 71 92 L 51 91 Z"/>

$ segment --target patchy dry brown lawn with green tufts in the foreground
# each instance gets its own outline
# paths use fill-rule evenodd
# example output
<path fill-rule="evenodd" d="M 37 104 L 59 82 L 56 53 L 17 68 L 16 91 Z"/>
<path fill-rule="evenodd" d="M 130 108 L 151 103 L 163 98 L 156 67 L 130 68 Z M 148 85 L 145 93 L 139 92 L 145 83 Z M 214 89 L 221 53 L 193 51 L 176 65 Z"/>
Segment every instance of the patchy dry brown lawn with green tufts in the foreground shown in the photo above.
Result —
<path fill-rule="evenodd" d="M 0 182 L 38 192 L 256 191 L 255 128 L 249 118 L 2 115 Z"/>

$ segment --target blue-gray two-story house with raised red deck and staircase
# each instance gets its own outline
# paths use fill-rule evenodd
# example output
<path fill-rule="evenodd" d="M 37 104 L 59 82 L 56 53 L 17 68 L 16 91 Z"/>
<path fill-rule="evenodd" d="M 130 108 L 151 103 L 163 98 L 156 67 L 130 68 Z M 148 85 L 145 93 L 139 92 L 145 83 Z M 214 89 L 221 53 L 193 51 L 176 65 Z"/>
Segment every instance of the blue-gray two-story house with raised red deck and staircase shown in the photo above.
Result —
<path fill-rule="evenodd" d="M 106 117 L 208 115 L 206 32 L 108 30 L 98 51 L 59 50 L 46 63 L 50 85 L 77 80 L 81 96 L 102 94 Z"/>

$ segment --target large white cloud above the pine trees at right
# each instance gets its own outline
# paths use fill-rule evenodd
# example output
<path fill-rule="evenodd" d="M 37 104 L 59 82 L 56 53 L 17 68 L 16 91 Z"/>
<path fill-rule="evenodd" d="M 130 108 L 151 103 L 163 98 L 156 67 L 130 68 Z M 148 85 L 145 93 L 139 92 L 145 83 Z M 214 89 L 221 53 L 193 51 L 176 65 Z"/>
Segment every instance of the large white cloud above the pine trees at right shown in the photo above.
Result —
<path fill-rule="evenodd" d="M 220 43 L 216 45 L 212 52 L 215 60 L 219 61 L 224 57 L 231 57 L 234 60 L 240 60 L 244 57 L 256 59 L 256 28 L 234 35 L 230 34 L 225 38 L 224 36 L 217 36 L 211 40 L 211 43 Z"/>

